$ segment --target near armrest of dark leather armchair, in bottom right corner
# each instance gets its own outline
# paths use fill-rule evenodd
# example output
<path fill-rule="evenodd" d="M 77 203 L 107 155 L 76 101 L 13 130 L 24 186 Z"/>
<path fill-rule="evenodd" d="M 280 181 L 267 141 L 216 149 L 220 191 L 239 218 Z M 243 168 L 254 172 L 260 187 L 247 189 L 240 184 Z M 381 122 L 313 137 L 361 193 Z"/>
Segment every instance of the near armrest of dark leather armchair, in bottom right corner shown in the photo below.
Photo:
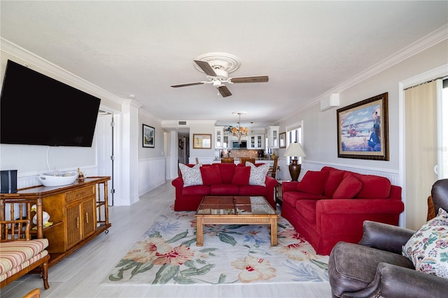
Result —
<path fill-rule="evenodd" d="M 414 269 L 379 263 L 374 280 L 364 290 L 342 297 L 447 297 L 446 278 Z"/>

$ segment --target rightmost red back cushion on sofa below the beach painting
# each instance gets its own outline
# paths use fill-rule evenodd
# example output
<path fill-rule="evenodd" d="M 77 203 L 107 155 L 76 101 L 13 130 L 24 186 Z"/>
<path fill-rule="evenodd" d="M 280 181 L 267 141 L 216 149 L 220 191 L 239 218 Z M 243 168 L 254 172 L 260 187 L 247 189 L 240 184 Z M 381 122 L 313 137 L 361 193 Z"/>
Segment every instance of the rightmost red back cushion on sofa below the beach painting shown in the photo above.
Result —
<path fill-rule="evenodd" d="M 388 178 L 374 175 L 353 173 L 363 183 L 363 188 L 356 194 L 360 199 L 386 199 L 391 194 L 391 181 Z"/>

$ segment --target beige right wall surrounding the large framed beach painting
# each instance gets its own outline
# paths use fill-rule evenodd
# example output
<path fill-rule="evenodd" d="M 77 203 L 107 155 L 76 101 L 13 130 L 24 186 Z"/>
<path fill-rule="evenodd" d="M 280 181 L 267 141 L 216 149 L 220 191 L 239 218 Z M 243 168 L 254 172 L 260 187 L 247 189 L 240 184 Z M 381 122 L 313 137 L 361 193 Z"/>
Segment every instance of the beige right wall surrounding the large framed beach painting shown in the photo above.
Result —
<path fill-rule="evenodd" d="M 337 108 L 321 112 L 320 106 L 316 104 L 306 111 L 297 113 L 297 115 L 280 122 L 280 132 L 283 132 L 286 126 L 303 120 L 303 145 L 304 150 L 307 152 L 307 157 L 304 158 L 302 169 L 306 170 L 307 162 L 315 162 L 335 167 L 360 167 L 375 171 L 397 173 L 402 177 L 400 158 L 402 158 L 403 148 L 400 148 L 400 138 L 402 137 L 400 121 L 403 120 L 400 119 L 399 83 L 448 64 L 447 52 L 448 42 L 445 40 L 340 92 L 339 108 L 388 92 L 389 161 L 337 157 Z M 448 69 L 445 75 L 448 75 Z M 283 152 L 280 152 L 280 154 L 282 155 Z M 407 183 L 412 183 L 412 181 L 407 181 Z M 426 200 L 426 197 L 421 199 Z M 414 204 L 414 202 L 407 201 L 405 204 Z M 426 210 L 421 212 L 426 214 Z"/>

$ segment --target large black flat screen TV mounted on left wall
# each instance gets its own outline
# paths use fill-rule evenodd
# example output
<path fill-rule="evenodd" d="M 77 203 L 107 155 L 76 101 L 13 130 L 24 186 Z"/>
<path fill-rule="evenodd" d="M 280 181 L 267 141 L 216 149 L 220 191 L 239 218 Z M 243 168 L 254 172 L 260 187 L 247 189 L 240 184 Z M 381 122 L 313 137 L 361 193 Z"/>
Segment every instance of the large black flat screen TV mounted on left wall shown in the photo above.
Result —
<path fill-rule="evenodd" d="M 0 143 L 91 147 L 100 99 L 8 60 Z"/>

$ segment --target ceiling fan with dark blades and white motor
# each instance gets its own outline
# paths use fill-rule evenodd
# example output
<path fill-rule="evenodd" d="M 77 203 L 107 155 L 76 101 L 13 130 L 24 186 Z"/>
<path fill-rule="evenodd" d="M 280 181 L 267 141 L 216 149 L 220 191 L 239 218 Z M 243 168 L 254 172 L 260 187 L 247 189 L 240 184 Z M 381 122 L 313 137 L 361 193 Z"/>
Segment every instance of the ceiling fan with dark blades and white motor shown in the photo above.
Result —
<path fill-rule="evenodd" d="M 171 87 L 187 87 L 193 85 L 213 84 L 222 97 L 230 97 L 232 93 L 226 85 L 223 83 L 264 83 L 269 80 L 268 76 L 244 76 L 239 78 L 229 78 L 228 71 L 225 66 L 214 60 L 213 64 L 209 64 L 207 61 L 193 60 L 199 68 L 207 74 L 209 80 L 195 83 L 186 83 L 180 85 L 172 85 Z"/>

